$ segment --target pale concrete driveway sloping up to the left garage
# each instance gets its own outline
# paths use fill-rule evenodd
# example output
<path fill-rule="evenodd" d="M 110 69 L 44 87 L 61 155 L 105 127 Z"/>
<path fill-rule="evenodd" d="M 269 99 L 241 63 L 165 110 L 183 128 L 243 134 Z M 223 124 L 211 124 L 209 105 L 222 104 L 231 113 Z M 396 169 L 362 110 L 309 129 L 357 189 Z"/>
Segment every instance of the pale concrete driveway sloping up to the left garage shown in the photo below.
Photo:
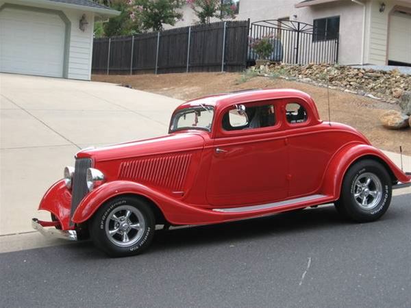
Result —
<path fill-rule="evenodd" d="M 0 235 L 33 231 L 40 198 L 86 146 L 160 136 L 181 103 L 114 84 L 0 74 Z"/>

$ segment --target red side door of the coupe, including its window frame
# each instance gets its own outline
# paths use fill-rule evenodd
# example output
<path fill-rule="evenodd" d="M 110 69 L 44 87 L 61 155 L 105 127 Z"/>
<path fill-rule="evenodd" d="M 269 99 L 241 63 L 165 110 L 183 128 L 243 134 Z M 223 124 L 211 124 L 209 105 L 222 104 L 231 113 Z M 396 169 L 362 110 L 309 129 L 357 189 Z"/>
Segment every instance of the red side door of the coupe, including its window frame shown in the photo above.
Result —
<path fill-rule="evenodd" d="M 269 203 L 288 195 L 288 155 L 275 101 L 242 106 L 247 123 L 235 123 L 240 116 L 234 107 L 217 119 L 221 129 L 212 146 L 207 187 L 208 203 L 215 207 Z M 258 108 L 269 114 L 256 120 Z"/>

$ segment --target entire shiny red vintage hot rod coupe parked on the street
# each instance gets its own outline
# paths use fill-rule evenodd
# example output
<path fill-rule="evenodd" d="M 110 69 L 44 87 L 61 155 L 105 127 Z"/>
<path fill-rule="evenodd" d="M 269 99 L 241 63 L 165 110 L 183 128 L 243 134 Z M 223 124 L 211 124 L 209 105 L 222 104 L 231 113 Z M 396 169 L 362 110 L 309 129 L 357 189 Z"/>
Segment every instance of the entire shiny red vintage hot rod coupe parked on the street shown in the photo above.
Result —
<path fill-rule="evenodd" d="M 411 185 L 356 129 L 323 122 L 297 90 L 246 90 L 183 103 L 169 134 L 79 151 L 33 218 L 38 231 L 88 235 L 111 256 L 141 253 L 156 224 L 214 224 L 334 203 L 356 222 Z M 46 228 L 51 227 L 51 228 Z"/>

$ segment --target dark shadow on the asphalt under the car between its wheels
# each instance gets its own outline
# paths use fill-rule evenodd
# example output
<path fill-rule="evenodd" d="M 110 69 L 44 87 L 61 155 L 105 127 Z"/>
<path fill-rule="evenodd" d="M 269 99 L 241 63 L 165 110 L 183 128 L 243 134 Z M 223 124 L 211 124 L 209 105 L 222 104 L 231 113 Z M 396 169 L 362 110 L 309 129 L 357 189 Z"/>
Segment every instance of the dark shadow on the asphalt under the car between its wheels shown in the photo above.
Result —
<path fill-rule="evenodd" d="M 323 206 L 236 222 L 183 227 L 169 231 L 158 230 L 147 253 L 221 242 L 252 241 L 264 237 L 306 232 L 311 229 L 329 229 L 349 224 L 350 222 L 337 213 L 334 206 Z"/>

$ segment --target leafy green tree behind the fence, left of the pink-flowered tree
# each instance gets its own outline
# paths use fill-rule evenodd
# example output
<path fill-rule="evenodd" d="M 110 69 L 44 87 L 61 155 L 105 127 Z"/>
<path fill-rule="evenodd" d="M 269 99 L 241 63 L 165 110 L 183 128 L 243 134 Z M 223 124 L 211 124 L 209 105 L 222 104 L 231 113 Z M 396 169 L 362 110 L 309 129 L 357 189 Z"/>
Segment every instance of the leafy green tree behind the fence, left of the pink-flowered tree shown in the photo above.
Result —
<path fill-rule="evenodd" d="M 143 29 L 162 31 L 163 24 L 175 25 L 183 14 L 179 12 L 185 0 L 135 0 Z"/>

